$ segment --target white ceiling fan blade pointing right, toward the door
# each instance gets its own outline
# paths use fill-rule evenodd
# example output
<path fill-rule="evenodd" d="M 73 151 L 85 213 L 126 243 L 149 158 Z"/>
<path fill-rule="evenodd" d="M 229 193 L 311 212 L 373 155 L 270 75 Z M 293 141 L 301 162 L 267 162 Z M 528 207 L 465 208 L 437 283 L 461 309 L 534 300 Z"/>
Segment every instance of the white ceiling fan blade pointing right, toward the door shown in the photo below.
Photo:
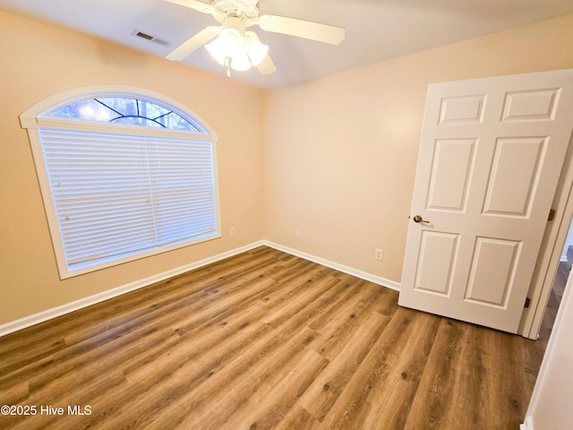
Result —
<path fill-rule="evenodd" d="M 261 15 L 258 23 L 262 30 L 318 40 L 332 45 L 342 42 L 346 34 L 346 31 L 340 27 L 278 15 Z"/>

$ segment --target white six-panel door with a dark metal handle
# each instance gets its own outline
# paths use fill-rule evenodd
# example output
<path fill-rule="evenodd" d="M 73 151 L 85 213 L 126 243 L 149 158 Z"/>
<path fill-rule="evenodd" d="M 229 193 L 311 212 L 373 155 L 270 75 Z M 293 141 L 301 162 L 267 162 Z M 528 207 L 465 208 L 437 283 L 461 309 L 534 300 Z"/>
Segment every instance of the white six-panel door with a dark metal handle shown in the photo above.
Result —
<path fill-rule="evenodd" d="M 515 333 L 571 136 L 573 70 L 432 84 L 425 109 L 399 305 Z"/>

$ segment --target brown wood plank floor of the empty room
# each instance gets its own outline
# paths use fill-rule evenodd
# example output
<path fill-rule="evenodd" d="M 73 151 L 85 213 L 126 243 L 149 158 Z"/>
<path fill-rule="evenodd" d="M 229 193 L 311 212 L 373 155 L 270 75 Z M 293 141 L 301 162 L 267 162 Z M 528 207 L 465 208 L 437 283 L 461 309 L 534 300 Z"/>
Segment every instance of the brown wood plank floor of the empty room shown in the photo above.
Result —
<path fill-rule="evenodd" d="M 0 338 L 0 428 L 518 429 L 540 342 L 397 302 L 260 247 Z"/>

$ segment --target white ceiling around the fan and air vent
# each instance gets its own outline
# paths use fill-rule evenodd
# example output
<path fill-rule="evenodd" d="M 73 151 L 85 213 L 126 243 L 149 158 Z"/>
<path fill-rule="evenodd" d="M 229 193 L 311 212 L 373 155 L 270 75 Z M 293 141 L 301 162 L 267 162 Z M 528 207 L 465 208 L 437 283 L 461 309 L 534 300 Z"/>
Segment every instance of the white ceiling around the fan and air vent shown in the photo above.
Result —
<path fill-rule="evenodd" d="M 0 0 L 0 8 L 161 57 L 196 32 L 218 25 L 210 14 L 163 0 Z M 269 45 L 278 70 L 269 75 L 256 69 L 232 72 L 231 79 L 277 88 L 573 13 L 573 1 L 261 0 L 259 9 L 346 29 L 346 39 L 332 46 L 252 27 Z M 169 45 L 136 37 L 134 30 Z M 184 64 L 227 73 L 202 47 Z"/>

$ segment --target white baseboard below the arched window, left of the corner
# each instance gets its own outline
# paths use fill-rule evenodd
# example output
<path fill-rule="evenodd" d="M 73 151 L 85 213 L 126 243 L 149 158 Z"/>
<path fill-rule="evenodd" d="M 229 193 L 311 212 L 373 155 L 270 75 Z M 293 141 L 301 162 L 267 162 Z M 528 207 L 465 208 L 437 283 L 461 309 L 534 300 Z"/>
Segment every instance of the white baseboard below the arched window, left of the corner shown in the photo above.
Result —
<path fill-rule="evenodd" d="M 150 278 L 145 278 L 143 280 L 136 280 L 121 287 L 108 289 L 107 291 L 103 291 L 90 297 L 84 297 L 81 298 L 80 300 L 76 300 L 71 303 L 66 303 L 65 305 L 57 306 L 52 309 L 47 309 L 46 311 L 39 312 L 38 314 L 31 314 L 30 316 L 25 316 L 24 318 L 21 318 L 19 320 L 10 323 L 4 323 L 0 325 L 0 337 L 8 333 L 12 333 L 13 331 L 19 331 L 21 329 L 31 327 L 32 325 L 36 325 L 38 323 L 44 323 L 47 320 L 56 318 L 57 316 L 69 314 L 84 307 L 95 305 L 107 299 L 121 296 L 122 294 L 129 293 L 130 291 L 133 291 L 135 289 L 147 287 L 161 280 L 167 280 L 169 278 L 173 278 L 174 276 L 180 275 L 185 271 L 192 271 L 193 269 L 198 269 L 202 266 L 210 264 L 211 262 L 218 262 L 219 260 L 224 260 L 228 257 L 232 257 L 233 255 L 250 251 L 251 249 L 261 245 L 264 245 L 262 241 L 255 242 L 251 245 L 241 246 L 231 251 L 227 251 L 226 253 L 214 255 L 212 257 L 200 260 L 198 262 L 185 264 L 184 266 L 177 267 L 171 271 L 164 271 L 163 273 L 158 273 L 157 275 L 151 276 Z"/>

